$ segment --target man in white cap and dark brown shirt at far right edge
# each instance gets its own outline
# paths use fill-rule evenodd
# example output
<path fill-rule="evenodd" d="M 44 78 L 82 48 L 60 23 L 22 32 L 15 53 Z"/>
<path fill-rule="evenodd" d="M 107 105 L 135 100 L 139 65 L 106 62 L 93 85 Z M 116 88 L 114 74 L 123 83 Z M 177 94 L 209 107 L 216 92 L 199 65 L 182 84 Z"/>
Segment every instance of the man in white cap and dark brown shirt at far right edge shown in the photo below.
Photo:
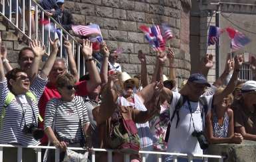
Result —
<path fill-rule="evenodd" d="M 234 105 L 235 132 L 245 140 L 256 141 L 256 81 L 245 82 L 241 93 L 241 102 Z"/>

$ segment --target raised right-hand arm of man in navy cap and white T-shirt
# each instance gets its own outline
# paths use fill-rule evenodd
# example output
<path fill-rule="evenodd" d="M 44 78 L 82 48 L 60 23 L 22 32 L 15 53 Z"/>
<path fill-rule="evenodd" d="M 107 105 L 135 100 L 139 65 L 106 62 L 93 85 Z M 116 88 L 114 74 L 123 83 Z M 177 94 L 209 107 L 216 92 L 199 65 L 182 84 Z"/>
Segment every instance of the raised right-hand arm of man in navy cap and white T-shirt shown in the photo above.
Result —
<path fill-rule="evenodd" d="M 225 98 L 227 95 L 233 92 L 235 89 L 236 81 L 238 79 L 239 69 L 241 68 L 241 65 L 243 63 L 242 56 L 235 56 L 235 69 L 233 71 L 233 75 L 227 84 L 227 87 L 223 90 L 222 93 L 219 93 L 218 95 L 214 95 L 213 97 L 213 104 L 216 104 L 220 102 L 223 98 Z"/>

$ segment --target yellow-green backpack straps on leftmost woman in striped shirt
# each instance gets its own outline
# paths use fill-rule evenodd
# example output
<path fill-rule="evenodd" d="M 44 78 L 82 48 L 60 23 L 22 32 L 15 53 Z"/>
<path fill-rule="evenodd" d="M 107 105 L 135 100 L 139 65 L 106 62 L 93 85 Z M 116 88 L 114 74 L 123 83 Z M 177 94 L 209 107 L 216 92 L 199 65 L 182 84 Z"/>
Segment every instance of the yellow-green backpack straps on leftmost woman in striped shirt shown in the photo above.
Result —
<path fill-rule="evenodd" d="M 28 99 L 30 99 L 31 101 L 34 101 L 34 102 L 37 102 L 37 97 L 35 97 L 35 95 L 31 92 L 31 91 L 28 91 L 26 94 L 26 97 Z M 3 124 L 3 118 L 5 118 L 5 109 L 7 108 L 7 106 L 9 106 L 9 104 L 11 104 L 11 102 L 13 100 L 15 100 L 15 95 L 13 95 L 13 93 L 9 92 L 7 94 L 7 97 L 5 99 L 5 104 L 3 104 L 3 109 L 2 109 L 2 113 L 1 113 L 1 117 L 0 117 L 0 130 L 2 128 L 2 124 Z M 39 118 L 39 121 L 40 122 L 43 122 L 43 118 L 41 117 L 41 115 L 39 114 L 38 116 Z"/>

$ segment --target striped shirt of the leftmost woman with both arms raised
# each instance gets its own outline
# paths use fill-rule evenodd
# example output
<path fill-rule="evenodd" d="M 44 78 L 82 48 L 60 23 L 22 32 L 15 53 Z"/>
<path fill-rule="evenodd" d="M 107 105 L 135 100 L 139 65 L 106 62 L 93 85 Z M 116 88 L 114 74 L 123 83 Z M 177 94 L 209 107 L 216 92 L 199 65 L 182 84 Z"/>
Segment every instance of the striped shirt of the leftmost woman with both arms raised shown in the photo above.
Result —
<path fill-rule="evenodd" d="M 37 101 L 39 101 L 43 91 L 45 89 L 45 85 L 47 84 L 47 79 L 42 79 L 39 75 L 35 78 L 33 85 L 31 85 L 31 92 L 37 97 Z M 9 89 L 7 87 L 7 80 L 0 82 L 0 114 L 3 110 L 3 105 L 5 104 L 5 100 L 7 99 L 7 95 L 9 93 Z M 18 98 L 22 102 L 22 106 L 16 99 L 11 101 L 11 103 L 5 108 L 5 118 L 3 118 L 3 125 L 0 130 L 0 143 L 17 143 L 20 145 L 39 145 L 39 141 L 35 140 L 32 134 L 23 133 L 23 128 L 26 124 L 31 124 L 34 119 L 37 120 L 39 116 L 39 109 L 37 106 L 37 102 L 33 102 L 32 108 L 35 113 L 35 118 L 33 118 L 33 110 L 25 95 L 19 95 Z M 24 112 L 24 113 L 23 113 Z M 24 118 L 23 118 L 24 114 Z"/>

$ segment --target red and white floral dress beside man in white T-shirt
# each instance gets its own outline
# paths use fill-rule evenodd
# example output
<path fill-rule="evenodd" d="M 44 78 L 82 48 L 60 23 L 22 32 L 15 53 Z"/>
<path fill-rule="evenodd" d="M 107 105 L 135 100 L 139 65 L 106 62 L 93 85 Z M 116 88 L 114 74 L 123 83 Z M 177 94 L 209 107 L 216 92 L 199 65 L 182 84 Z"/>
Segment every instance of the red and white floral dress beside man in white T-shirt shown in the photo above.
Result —
<path fill-rule="evenodd" d="M 154 150 L 166 151 L 167 143 L 164 142 L 166 138 L 166 130 L 170 122 L 170 105 L 162 104 L 160 114 L 150 120 L 150 131 L 152 132 L 156 142 L 153 144 Z"/>

